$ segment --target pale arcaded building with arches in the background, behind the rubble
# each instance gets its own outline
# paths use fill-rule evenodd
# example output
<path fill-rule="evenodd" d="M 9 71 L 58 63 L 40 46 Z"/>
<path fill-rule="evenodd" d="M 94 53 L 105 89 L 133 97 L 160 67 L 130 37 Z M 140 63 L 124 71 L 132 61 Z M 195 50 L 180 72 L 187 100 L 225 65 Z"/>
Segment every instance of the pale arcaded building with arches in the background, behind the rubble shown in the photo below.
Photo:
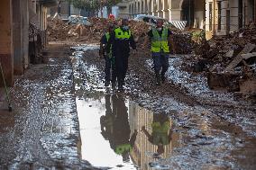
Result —
<path fill-rule="evenodd" d="M 191 27 L 203 29 L 205 26 L 205 0 L 123 0 L 117 5 L 120 13 L 129 18 L 150 14 L 169 21 L 187 21 Z"/>

